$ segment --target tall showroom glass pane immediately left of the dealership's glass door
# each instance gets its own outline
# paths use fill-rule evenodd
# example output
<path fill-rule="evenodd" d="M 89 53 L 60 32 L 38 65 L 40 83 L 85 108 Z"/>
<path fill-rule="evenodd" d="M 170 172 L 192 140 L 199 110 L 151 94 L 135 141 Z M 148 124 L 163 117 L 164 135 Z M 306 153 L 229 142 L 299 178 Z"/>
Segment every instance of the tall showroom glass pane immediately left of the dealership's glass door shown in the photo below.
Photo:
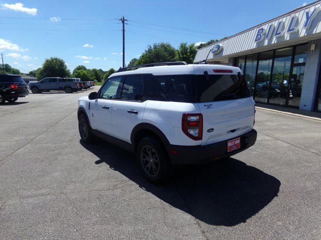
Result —
<path fill-rule="evenodd" d="M 285 105 L 291 60 L 292 47 L 275 50 L 269 103 Z"/>

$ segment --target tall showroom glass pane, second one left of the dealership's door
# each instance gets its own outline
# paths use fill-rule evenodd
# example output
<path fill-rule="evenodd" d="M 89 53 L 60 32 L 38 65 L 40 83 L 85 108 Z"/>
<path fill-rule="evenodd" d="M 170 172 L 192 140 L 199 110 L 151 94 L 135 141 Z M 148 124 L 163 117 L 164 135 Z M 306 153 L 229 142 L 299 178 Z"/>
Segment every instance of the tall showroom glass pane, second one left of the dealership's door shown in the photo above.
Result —
<path fill-rule="evenodd" d="M 255 84 L 255 100 L 267 103 L 269 92 L 273 51 L 261 52 Z"/>

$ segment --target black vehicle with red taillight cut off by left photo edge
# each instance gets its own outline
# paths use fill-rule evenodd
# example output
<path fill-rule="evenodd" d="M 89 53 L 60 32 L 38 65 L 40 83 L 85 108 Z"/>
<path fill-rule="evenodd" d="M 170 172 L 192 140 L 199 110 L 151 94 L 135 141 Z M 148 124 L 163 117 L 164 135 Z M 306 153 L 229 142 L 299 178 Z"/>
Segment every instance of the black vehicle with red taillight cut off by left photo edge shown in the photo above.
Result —
<path fill-rule="evenodd" d="M 29 94 L 28 86 L 20 75 L 0 74 L 0 104 L 14 102 Z"/>

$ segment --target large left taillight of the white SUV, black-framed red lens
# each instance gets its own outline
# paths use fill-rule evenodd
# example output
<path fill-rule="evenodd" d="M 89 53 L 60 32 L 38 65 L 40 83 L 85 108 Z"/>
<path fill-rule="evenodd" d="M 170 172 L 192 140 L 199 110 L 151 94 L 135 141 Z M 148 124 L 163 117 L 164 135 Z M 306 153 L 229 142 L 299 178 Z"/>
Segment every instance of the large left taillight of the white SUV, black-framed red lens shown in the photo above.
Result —
<path fill-rule="evenodd" d="M 182 116 L 182 130 L 193 140 L 202 140 L 203 115 L 201 113 L 184 113 Z"/>

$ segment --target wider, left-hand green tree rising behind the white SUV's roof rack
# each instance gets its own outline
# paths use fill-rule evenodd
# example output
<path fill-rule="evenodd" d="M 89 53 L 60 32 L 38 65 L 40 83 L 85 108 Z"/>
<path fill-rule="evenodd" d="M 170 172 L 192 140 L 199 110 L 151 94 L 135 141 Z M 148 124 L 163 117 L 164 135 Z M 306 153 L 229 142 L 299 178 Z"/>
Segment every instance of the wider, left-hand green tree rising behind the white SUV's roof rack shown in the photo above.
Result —
<path fill-rule="evenodd" d="M 148 45 L 147 49 L 141 54 L 138 64 L 147 64 L 155 62 L 166 62 L 176 60 L 176 49 L 166 42 L 154 43 Z"/>

